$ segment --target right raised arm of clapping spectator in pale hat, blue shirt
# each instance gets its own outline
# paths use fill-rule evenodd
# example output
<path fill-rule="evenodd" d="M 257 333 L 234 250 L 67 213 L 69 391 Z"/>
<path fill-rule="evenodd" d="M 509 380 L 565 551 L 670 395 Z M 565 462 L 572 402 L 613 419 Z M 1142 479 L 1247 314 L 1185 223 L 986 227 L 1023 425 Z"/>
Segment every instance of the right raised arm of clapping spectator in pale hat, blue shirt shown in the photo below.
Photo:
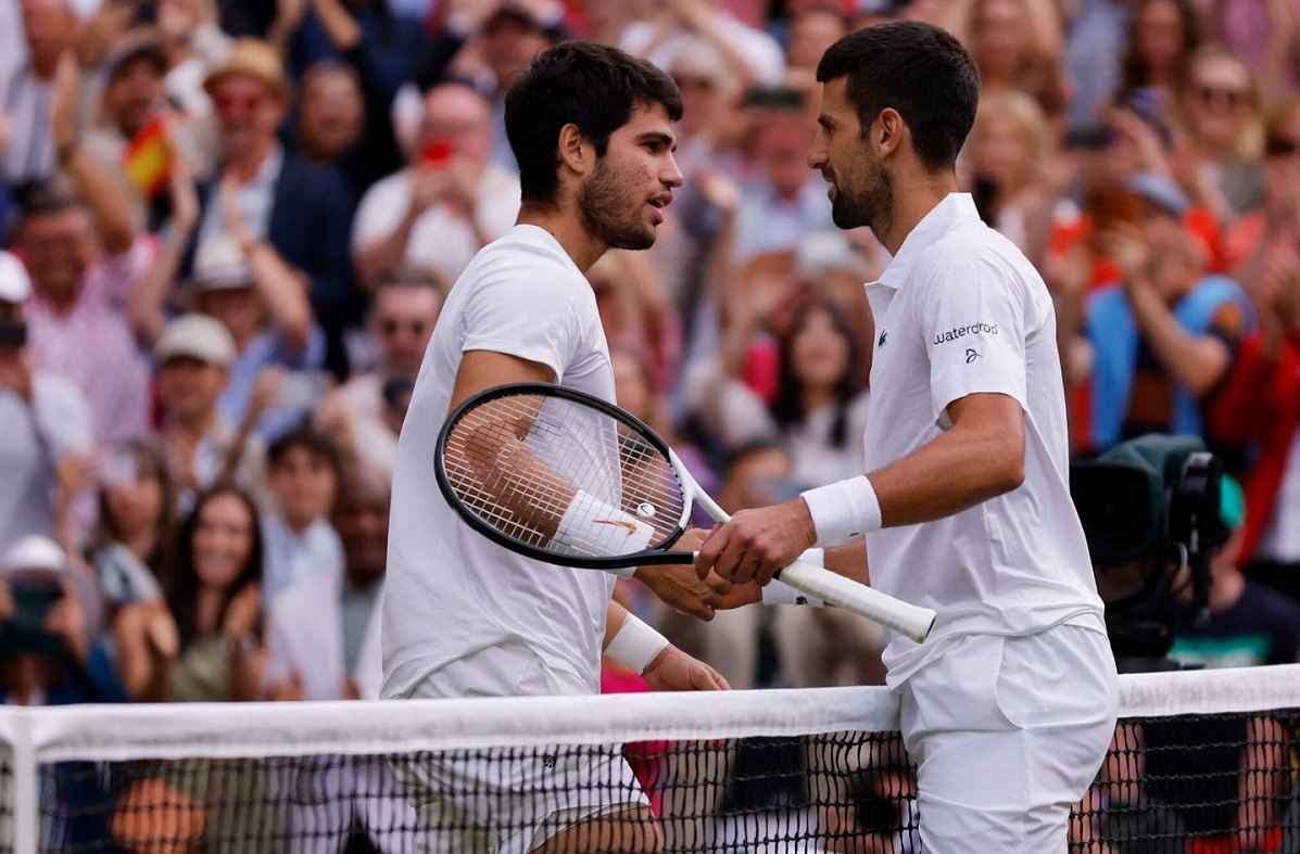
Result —
<path fill-rule="evenodd" d="M 312 334 L 312 305 L 307 298 L 304 277 L 290 266 L 266 240 L 256 240 L 248 234 L 239 213 L 238 185 L 231 177 L 221 182 L 221 209 L 226 229 L 239 242 L 254 287 L 270 313 L 270 322 L 280 333 L 291 355 L 302 354 Z"/>

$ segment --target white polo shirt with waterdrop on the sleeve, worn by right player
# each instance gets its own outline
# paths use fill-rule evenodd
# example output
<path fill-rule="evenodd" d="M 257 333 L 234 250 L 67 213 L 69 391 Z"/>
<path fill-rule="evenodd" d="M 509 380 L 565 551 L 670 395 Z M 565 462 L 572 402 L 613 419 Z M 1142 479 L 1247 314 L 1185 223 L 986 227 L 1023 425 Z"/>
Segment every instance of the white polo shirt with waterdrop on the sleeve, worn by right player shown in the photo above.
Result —
<path fill-rule="evenodd" d="M 967 194 L 916 224 L 880 279 L 866 471 L 948 429 L 946 407 L 998 393 L 1024 409 L 1024 482 L 936 521 L 867 536 L 871 585 L 939 612 L 931 638 L 893 636 L 889 684 L 962 634 L 1032 634 L 1061 623 L 1104 632 L 1083 526 L 1070 499 L 1056 313 L 1037 270 L 984 225 Z"/>

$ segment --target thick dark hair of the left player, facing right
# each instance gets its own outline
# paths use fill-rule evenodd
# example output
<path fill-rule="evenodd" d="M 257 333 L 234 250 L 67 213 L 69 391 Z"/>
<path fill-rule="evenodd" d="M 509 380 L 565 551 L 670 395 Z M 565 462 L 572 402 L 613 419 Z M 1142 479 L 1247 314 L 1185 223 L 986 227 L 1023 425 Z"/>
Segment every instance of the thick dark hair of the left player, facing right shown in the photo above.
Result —
<path fill-rule="evenodd" d="M 681 118 L 681 92 L 645 60 L 603 44 L 567 42 L 542 51 L 506 95 L 506 135 L 525 203 L 551 205 L 559 190 L 560 129 L 576 125 L 604 156 L 610 135 L 637 107 L 662 104 Z"/>

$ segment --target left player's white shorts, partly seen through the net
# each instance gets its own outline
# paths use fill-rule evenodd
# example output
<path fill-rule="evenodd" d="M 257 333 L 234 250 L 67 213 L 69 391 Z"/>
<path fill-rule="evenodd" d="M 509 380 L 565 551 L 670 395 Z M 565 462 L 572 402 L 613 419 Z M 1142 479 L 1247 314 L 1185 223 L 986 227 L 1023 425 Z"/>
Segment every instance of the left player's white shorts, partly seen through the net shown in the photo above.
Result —
<path fill-rule="evenodd" d="M 410 695 L 590 694 L 568 673 L 520 660 L 517 650 L 491 647 L 438 668 Z M 462 750 L 398 762 L 394 771 L 428 835 L 424 850 L 438 854 L 526 854 L 589 819 L 649 815 L 621 745 Z"/>

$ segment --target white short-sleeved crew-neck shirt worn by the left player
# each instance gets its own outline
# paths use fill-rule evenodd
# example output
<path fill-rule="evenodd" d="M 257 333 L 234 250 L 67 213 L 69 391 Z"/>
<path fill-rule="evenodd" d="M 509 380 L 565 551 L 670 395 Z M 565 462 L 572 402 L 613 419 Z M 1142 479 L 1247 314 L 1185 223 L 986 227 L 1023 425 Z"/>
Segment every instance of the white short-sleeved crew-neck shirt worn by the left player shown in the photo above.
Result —
<path fill-rule="evenodd" d="M 614 370 L 595 295 L 547 231 L 516 225 L 456 279 L 416 378 L 393 478 L 384 588 L 384 692 L 407 695 L 459 658 L 497 647 L 599 693 L 604 612 L 614 576 L 516 555 L 447 506 L 433 474 L 460 356 L 510 354 L 547 365 L 556 381 L 614 400 Z M 507 668 L 508 669 L 508 668 Z M 476 684 L 474 693 L 524 693 Z"/>

